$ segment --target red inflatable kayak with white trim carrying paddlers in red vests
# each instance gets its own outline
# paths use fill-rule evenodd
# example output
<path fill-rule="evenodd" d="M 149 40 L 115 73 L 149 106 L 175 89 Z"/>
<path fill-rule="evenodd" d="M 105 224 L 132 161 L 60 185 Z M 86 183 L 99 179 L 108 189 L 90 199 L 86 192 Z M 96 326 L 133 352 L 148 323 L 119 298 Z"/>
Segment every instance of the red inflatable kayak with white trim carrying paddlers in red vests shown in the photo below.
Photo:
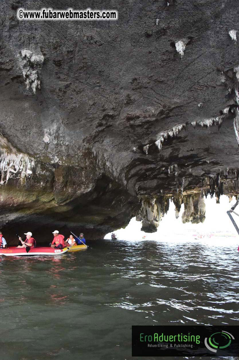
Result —
<path fill-rule="evenodd" d="M 31 255 L 62 255 L 66 251 L 68 251 L 68 248 L 64 249 L 52 249 L 51 247 L 36 247 L 36 248 L 30 248 L 30 250 L 27 252 L 24 248 L 16 248 L 15 246 L 6 248 L 6 249 L 0 249 L 0 255 L 5 256 L 31 256 Z"/>

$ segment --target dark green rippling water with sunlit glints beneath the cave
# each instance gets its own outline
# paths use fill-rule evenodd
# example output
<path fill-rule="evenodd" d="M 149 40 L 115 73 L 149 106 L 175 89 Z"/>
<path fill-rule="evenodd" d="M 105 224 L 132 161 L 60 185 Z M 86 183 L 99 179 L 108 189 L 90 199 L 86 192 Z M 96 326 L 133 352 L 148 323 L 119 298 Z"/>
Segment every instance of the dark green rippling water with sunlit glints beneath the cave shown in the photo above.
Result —
<path fill-rule="evenodd" d="M 0 257 L 0 358 L 131 359 L 132 325 L 239 325 L 237 244 L 220 241 Z"/>

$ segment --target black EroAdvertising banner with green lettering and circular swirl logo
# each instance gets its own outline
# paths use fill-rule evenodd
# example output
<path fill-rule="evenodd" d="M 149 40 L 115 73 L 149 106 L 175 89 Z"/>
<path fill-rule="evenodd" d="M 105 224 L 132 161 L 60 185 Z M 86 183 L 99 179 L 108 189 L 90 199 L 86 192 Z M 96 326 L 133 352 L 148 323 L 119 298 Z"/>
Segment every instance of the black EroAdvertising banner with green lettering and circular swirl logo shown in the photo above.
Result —
<path fill-rule="evenodd" d="M 132 326 L 132 356 L 238 356 L 239 326 Z"/>

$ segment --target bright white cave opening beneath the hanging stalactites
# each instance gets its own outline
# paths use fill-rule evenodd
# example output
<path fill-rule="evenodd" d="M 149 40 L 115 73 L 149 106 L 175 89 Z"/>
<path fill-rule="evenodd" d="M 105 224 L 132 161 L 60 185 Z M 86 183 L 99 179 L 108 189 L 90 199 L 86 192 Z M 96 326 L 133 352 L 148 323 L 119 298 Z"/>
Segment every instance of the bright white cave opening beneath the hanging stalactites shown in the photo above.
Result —
<path fill-rule="evenodd" d="M 204 198 L 205 218 L 203 222 L 184 222 L 184 204 L 182 204 L 179 213 L 175 209 L 172 201 L 169 204 L 168 212 L 159 222 L 159 226 L 154 233 L 142 231 L 142 221 L 137 221 L 133 217 L 125 228 L 117 229 L 108 233 L 104 239 L 111 239 L 111 234 L 116 234 L 119 240 L 149 240 L 164 242 L 181 241 L 214 241 L 215 245 L 226 241 L 238 242 L 238 234 L 226 213 L 235 203 L 236 197 L 221 195 L 220 203 L 217 198 Z M 193 212 L 193 209 L 191 209 Z M 176 216 L 175 216 L 176 215 Z M 193 214 L 190 214 L 193 216 Z M 194 214 L 195 215 L 195 214 Z"/>

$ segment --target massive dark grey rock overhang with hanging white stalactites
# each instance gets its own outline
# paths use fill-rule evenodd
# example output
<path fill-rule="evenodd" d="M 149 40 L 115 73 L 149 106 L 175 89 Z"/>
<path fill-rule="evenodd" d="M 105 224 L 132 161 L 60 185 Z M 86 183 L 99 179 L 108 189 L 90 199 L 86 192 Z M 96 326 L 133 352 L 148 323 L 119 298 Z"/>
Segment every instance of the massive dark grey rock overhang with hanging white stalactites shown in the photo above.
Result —
<path fill-rule="evenodd" d="M 238 192 L 236 1 L 140 4 L 115 3 L 118 22 L 34 22 L 33 31 L 13 24 L 3 1 L 6 231 L 36 217 L 36 229 L 48 219 L 98 237 L 136 213 L 152 231 L 169 198 L 197 221 L 208 190 Z"/>

